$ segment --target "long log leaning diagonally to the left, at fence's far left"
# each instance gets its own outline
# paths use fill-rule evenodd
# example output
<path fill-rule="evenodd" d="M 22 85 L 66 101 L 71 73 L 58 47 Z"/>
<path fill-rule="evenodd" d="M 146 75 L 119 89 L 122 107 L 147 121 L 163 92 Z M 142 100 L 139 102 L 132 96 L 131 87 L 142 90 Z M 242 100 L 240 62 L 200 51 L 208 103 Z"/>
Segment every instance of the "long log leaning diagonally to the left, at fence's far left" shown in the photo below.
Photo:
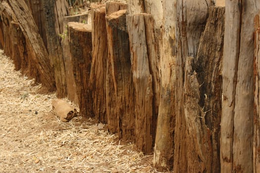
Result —
<path fill-rule="evenodd" d="M 36 67 L 35 71 L 39 72 L 39 81 L 49 90 L 54 90 L 55 82 L 52 67 L 50 65 L 49 54 L 45 49 L 43 40 L 38 32 L 38 28 L 29 8 L 23 0 L 6 0 L 6 2 L 10 5 L 25 38 L 30 42 L 36 55 L 32 58 Z"/>

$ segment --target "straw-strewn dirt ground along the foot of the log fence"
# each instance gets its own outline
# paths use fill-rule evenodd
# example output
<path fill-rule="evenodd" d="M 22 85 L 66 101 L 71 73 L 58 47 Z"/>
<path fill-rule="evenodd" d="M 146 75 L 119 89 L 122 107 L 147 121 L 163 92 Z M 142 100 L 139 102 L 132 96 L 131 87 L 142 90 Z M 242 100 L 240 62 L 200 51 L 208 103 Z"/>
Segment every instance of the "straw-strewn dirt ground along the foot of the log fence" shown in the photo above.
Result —
<path fill-rule="evenodd" d="M 14 71 L 0 51 L 0 173 L 156 173 L 152 155 L 120 145 L 104 125 L 52 115 L 53 94 Z M 83 123 L 82 123 L 83 122 Z"/>

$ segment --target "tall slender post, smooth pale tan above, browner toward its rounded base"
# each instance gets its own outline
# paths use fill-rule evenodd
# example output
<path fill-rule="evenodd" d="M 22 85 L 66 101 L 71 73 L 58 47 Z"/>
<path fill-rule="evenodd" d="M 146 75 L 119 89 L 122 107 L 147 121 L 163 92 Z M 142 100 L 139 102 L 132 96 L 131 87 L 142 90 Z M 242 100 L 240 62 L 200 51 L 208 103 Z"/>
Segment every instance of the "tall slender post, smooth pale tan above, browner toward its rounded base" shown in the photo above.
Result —
<path fill-rule="evenodd" d="M 175 121 L 175 19 L 176 0 L 163 0 L 163 49 L 160 57 L 160 103 L 154 148 L 154 167 L 167 171 L 173 167 Z"/>

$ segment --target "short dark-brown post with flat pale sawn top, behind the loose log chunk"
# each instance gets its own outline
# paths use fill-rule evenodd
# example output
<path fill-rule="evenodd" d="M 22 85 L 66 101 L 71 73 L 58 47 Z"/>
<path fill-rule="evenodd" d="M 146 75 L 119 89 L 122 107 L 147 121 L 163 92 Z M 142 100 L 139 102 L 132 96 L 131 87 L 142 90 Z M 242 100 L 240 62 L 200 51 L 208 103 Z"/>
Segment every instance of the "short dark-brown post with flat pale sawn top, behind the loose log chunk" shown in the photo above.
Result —
<path fill-rule="evenodd" d="M 92 94 L 89 88 L 92 51 L 91 25 L 78 22 L 68 23 L 71 62 L 79 99 L 80 115 L 92 117 Z"/>

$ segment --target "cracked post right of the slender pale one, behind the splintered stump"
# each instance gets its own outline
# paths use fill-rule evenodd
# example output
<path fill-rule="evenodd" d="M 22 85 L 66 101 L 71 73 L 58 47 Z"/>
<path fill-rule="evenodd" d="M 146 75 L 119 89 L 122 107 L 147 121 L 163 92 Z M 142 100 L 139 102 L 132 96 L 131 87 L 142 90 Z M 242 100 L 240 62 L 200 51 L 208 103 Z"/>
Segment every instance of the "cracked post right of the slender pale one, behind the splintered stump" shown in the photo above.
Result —
<path fill-rule="evenodd" d="M 174 131 L 174 172 L 197 172 L 204 170 L 205 166 L 201 163 L 201 155 L 193 155 L 193 144 L 189 137 L 195 135 L 195 131 L 189 134 L 187 129 L 186 114 L 184 112 L 185 93 L 184 76 L 186 57 L 197 57 L 199 41 L 205 29 L 208 17 L 208 5 L 204 0 L 177 1 L 177 23 L 176 23 L 176 96 L 175 111 L 176 122 Z M 192 161 L 194 160 L 194 161 Z M 192 167 L 198 163 L 196 167 Z M 199 164 L 200 163 L 200 164 Z"/>

